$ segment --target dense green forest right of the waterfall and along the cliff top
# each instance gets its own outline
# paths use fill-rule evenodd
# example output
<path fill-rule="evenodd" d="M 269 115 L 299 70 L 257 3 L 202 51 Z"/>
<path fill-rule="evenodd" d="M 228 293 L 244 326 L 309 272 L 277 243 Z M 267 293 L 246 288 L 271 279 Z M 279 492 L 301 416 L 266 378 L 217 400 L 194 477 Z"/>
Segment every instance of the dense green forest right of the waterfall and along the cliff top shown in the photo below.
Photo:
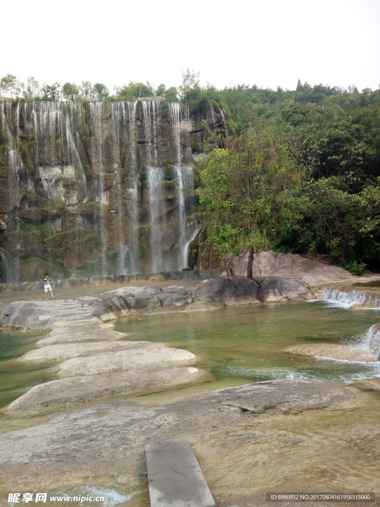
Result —
<path fill-rule="evenodd" d="M 227 137 L 209 132 L 198 157 L 197 220 L 221 256 L 242 249 L 331 262 L 360 274 L 380 270 L 380 89 L 298 84 L 295 90 L 201 86 L 185 71 L 179 87 L 130 82 L 25 84 L 8 75 L 0 95 L 24 100 L 135 100 L 163 96 L 191 110 L 212 101 Z"/>

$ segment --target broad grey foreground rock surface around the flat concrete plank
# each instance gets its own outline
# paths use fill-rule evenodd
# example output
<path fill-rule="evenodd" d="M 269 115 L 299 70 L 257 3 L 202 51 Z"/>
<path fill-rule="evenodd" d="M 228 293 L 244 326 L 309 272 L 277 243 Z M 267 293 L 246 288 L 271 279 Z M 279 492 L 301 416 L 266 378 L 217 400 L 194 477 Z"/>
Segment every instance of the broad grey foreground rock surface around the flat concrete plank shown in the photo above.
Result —
<path fill-rule="evenodd" d="M 173 434 L 189 439 L 202 467 L 206 443 L 216 451 L 220 446 L 230 449 L 262 439 L 280 447 L 305 441 L 305 436 L 289 431 L 255 430 L 251 425 L 262 417 L 338 407 L 353 400 L 355 394 L 347 388 L 310 380 L 277 380 L 222 389 L 165 406 L 122 400 L 95 403 L 1 436 L 0 480 L 9 487 L 41 488 L 55 478 L 71 478 L 73 473 L 77 478 L 96 477 L 100 462 L 101 477 L 123 472 L 138 478 L 144 444 L 170 440 Z"/>

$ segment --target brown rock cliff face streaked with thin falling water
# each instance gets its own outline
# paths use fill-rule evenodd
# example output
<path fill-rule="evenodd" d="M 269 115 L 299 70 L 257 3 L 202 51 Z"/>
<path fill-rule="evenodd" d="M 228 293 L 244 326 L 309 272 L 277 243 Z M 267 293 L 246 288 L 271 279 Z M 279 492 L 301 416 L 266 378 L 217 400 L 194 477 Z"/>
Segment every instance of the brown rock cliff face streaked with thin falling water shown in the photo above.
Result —
<path fill-rule="evenodd" d="M 187 266 L 193 152 L 211 104 L 0 101 L 0 278 Z"/>

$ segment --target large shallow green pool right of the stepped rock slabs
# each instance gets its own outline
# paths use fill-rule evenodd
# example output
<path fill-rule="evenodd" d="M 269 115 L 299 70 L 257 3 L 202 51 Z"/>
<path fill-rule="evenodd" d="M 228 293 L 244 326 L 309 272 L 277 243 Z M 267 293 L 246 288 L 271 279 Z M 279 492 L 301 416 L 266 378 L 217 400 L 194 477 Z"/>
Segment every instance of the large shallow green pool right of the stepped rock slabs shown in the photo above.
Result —
<path fill-rule="evenodd" d="M 165 342 L 201 357 L 216 381 L 227 384 L 308 378 L 338 384 L 380 376 L 371 365 L 301 357 L 281 349 L 306 343 L 358 343 L 380 312 L 348 311 L 323 301 L 225 307 L 214 311 L 122 319 L 117 330 L 135 340 Z M 216 387 L 214 387 L 216 388 Z"/>

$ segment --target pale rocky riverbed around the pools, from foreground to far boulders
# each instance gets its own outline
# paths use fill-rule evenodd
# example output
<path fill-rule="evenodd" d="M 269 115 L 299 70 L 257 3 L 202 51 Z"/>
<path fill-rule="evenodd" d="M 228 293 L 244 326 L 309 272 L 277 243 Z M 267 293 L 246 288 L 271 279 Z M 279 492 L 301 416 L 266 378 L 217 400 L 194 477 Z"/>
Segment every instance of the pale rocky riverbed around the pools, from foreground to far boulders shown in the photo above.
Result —
<path fill-rule="evenodd" d="M 159 406 L 115 399 L 194 385 L 211 374 L 196 368 L 197 357 L 186 350 L 128 341 L 128 334 L 113 331 L 111 320 L 313 297 L 305 284 L 268 276 L 258 283 L 224 277 L 3 304 L 3 326 L 50 330 L 18 359 L 20 366 L 55 361 L 56 371 L 56 380 L 31 388 L 6 407 L 7 417 L 64 410 L 0 437 L 4 491 L 112 483 L 115 490 L 134 495 L 125 505 L 143 507 L 148 505 L 144 444 L 174 436 L 191 442 L 220 507 L 264 505 L 265 490 L 376 491 L 380 401 L 374 379 L 353 387 L 311 380 L 258 382 Z M 315 346 L 320 352 L 342 347 Z M 313 352 L 308 353 L 317 355 Z M 330 461 L 332 447 L 336 458 Z M 345 469 L 344 463 L 351 464 Z"/>

